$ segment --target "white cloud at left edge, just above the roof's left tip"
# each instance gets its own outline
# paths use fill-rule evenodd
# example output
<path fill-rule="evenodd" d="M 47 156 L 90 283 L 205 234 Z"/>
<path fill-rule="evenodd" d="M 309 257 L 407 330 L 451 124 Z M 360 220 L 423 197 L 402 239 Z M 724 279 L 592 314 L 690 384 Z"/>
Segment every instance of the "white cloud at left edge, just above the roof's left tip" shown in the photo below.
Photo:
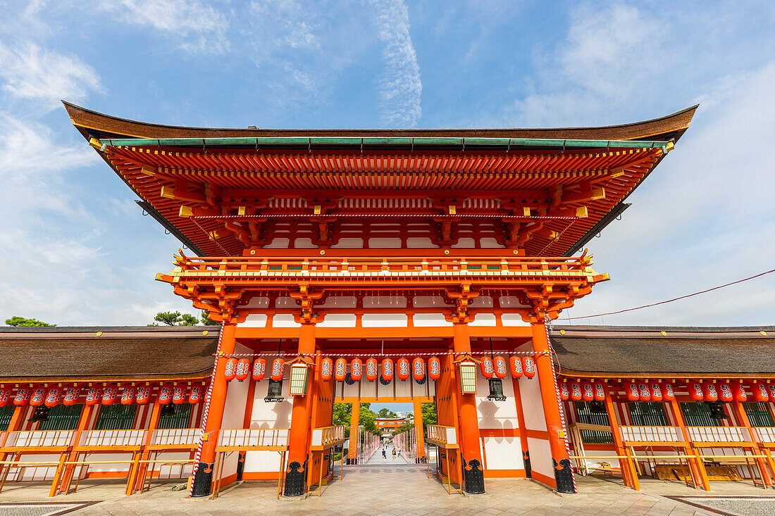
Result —
<path fill-rule="evenodd" d="M 10 97 L 36 101 L 48 111 L 60 106 L 60 98 L 77 101 L 101 89 L 98 74 L 88 64 L 29 41 L 0 41 L 0 82 Z"/>

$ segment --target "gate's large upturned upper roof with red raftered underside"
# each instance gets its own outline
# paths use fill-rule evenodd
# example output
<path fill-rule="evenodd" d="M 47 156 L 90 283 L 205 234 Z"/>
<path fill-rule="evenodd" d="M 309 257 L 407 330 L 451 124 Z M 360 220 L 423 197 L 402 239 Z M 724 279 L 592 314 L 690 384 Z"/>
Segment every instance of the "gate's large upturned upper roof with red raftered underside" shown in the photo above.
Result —
<path fill-rule="evenodd" d="M 325 212 L 343 219 L 364 215 L 352 208 L 358 201 L 344 204 L 348 195 L 388 192 L 421 203 L 463 194 L 480 208 L 459 208 L 456 216 L 494 221 L 515 213 L 499 198 L 559 203 L 546 213 L 551 220 L 527 221 L 540 231 L 525 229 L 521 246 L 532 256 L 570 256 L 624 211 L 625 199 L 684 134 L 697 106 L 644 122 L 556 129 L 195 128 L 120 119 L 67 102 L 65 108 L 143 209 L 200 256 L 238 256 L 248 244 L 238 234 L 241 222 L 224 230 L 222 220 L 191 218 L 188 205 L 206 211 L 220 195 L 229 206 L 243 199 L 265 206 L 250 216 L 311 223 L 305 196 L 343 203 Z M 488 201 L 492 206 L 484 207 Z M 429 206 L 391 215 L 439 215 Z"/>

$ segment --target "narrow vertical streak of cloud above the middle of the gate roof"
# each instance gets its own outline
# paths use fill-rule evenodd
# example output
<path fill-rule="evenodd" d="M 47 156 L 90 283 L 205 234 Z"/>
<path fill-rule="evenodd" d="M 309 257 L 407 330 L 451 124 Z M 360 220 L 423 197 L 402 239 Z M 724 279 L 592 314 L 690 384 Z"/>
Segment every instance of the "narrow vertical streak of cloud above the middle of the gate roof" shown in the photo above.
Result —
<path fill-rule="evenodd" d="M 371 0 L 377 14 L 377 36 L 384 44 L 380 77 L 380 111 L 388 126 L 414 127 L 422 116 L 422 80 L 415 46 L 409 33 L 406 4 Z"/>

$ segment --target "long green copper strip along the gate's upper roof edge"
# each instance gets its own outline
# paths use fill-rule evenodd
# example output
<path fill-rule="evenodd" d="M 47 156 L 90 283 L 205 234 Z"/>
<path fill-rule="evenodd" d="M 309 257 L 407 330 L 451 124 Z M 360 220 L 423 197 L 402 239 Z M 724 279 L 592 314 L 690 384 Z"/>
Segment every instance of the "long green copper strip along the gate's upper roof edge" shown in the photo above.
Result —
<path fill-rule="evenodd" d="M 405 138 L 354 136 L 238 137 L 238 138 L 105 138 L 102 146 L 505 146 L 505 147 L 561 147 L 565 149 L 608 148 L 670 150 L 670 142 L 632 139 L 548 139 L 548 138 Z"/>

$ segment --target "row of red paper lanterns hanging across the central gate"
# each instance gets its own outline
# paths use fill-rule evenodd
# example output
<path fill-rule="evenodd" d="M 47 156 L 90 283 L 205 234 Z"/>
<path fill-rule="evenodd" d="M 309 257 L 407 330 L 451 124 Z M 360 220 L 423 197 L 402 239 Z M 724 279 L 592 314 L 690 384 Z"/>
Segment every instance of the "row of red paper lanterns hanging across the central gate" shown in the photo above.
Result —
<path fill-rule="evenodd" d="M 347 370 L 350 370 L 350 378 L 360 381 L 364 376 L 370 382 L 377 380 L 377 366 L 379 363 L 373 356 L 365 362 L 360 358 L 354 358 L 349 363 L 346 359 L 334 359 L 326 356 L 320 362 L 320 377 L 323 381 L 329 381 L 334 378 L 336 381 L 343 381 L 347 376 Z M 271 363 L 270 378 L 274 381 L 282 380 L 285 369 L 284 359 L 277 357 Z M 416 381 L 422 381 L 425 378 L 425 360 L 416 356 L 410 363 L 408 359 L 401 357 L 393 363 L 392 359 L 384 358 L 381 362 L 382 379 L 389 382 L 393 380 L 395 374 L 398 380 L 408 380 L 410 376 Z M 525 376 L 532 378 L 536 376 L 536 361 L 532 356 L 524 356 L 520 359 L 518 356 L 512 356 L 508 363 L 503 356 L 484 356 L 480 362 L 480 370 L 484 378 L 505 378 L 508 373 L 512 377 L 520 378 Z M 224 369 L 226 380 L 244 381 L 251 377 L 255 381 L 263 380 L 267 374 L 267 360 L 257 358 L 252 361 L 245 356 L 242 358 L 230 357 L 226 360 Z M 441 377 L 441 360 L 432 356 L 428 359 L 428 377 L 431 380 L 439 380 Z"/>

